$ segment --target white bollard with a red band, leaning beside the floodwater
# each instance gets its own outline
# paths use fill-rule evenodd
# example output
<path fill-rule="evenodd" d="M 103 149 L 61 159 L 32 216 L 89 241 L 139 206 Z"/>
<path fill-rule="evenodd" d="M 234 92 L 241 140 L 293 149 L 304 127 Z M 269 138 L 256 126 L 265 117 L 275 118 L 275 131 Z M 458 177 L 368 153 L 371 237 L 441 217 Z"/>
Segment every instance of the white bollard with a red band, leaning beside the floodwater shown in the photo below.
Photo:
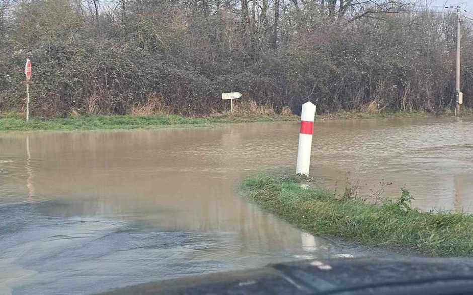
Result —
<path fill-rule="evenodd" d="M 300 117 L 299 151 L 297 153 L 297 174 L 309 176 L 310 153 L 312 150 L 313 121 L 316 118 L 316 106 L 309 102 L 302 105 Z"/>

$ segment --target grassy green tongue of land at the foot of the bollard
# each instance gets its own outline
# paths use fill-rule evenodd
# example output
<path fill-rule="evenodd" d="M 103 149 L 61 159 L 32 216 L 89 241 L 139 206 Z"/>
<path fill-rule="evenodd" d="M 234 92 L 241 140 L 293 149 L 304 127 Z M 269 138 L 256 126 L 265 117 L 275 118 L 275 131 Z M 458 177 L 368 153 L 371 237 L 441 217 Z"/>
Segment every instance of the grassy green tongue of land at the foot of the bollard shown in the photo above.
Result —
<path fill-rule="evenodd" d="M 412 209 L 406 190 L 396 201 L 370 204 L 301 188 L 297 178 L 256 176 L 244 188 L 264 209 L 313 234 L 429 256 L 473 256 L 473 216 Z"/>

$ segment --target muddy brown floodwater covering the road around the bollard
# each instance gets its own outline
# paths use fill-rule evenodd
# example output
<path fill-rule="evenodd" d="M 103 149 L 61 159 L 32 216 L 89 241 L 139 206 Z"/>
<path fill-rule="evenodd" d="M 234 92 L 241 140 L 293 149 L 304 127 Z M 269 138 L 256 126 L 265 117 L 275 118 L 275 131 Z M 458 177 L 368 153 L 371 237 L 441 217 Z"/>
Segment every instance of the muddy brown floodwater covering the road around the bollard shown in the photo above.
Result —
<path fill-rule="evenodd" d="M 93 293 L 350 254 L 239 194 L 246 176 L 295 171 L 298 128 L 0 134 L 0 293 Z M 473 119 L 317 122 L 311 175 L 473 212 Z"/>

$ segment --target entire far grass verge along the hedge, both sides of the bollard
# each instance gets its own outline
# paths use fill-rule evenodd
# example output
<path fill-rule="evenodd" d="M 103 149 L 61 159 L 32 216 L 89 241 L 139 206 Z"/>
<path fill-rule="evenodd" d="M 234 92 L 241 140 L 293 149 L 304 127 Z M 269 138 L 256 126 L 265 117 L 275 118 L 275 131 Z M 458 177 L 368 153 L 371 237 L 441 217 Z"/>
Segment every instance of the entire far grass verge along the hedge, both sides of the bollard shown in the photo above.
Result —
<path fill-rule="evenodd" d="M 465 111 L 465 115 L 471 115 Z M 441 115 L 426 112 L 363 113 L 340 112 L 317 115 L 317 121 L 325 120 L 384 120 L 395 118 L 442 118 Z M 135 130 L 161 129 L 170 127 L 209 127 L 221 124 L 257 123 L 257 122 L 296 122 L 297 115 L 248 115 L 237 116 L 223 114 L 207 117 L 185 117 L 170 114 L 151 116 L 113 115 L 113 116 L 70 116 L 65 118 L 34 117 L 26 122 L 20 113 L 0 113 L 0 131 L 91 131 L 91 130 Z"/>

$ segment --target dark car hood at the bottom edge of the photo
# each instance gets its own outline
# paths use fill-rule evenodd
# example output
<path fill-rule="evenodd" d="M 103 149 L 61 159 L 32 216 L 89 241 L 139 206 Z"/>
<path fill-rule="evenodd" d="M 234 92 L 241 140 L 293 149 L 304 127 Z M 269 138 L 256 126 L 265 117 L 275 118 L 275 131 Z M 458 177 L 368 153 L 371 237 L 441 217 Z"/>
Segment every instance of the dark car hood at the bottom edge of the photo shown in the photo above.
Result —
<path fill-rule="evenodd" d="M 473 260 L 344 258 L 145 283 L 104 294 L 466 294 Z"/>

